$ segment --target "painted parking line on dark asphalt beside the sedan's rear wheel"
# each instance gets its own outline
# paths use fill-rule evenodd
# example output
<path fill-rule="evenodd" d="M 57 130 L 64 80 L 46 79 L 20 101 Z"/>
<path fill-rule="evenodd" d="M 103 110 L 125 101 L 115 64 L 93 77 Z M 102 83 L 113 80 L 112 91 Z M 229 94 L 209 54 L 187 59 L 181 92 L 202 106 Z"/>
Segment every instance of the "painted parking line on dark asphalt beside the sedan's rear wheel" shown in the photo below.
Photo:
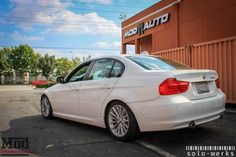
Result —
<path fill-rule="evenodd" d="M 165 157 L 176 157 L 175 155 L 157 147 L 157 146 L 154 146 L 154 145 L 151 145 L 151 144 L 148 144 L 146 142 L 143 142 L 143 141 L 140 141 L 140 140 L 136 140 L 136 143 L 142 145 L 143 147 L 147 148 L 147 149 L 150 149 L 158 154 L 161 154 Z"/>

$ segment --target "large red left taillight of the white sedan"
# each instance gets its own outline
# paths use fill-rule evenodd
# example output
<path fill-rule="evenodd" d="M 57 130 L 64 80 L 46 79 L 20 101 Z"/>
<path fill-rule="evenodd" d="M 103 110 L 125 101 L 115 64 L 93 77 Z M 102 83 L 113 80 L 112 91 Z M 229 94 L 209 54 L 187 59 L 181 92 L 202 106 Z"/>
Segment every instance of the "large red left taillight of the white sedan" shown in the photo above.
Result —
<path fill-rule="evenodd" d="M 176 78 L 168 78 L 159 86 L 160 95 L 173 95 L 184 93 L 188 90 L 189 82 L 178 81 Z"/>

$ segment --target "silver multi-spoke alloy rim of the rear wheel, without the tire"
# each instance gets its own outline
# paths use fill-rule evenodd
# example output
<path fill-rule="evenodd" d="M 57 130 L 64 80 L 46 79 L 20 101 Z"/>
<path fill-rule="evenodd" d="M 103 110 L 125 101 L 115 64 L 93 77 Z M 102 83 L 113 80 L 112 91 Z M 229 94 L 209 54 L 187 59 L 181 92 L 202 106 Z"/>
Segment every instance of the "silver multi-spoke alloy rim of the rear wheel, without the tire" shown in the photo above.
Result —
<path fill-rule="evenodd" d="M 112 133 L 118 137 L 124 136 L 129 130 L 129 115 L 121 105 L 114 105 L 108 115 L 109 127 Z"/>

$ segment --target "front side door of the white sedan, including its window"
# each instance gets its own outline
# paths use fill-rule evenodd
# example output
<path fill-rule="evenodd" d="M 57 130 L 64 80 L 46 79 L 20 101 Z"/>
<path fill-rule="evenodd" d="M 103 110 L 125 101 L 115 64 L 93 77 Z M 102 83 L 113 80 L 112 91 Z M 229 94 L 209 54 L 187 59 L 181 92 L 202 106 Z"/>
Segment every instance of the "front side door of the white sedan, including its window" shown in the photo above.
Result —
<path fill-rule="evenodd" d="M 58 85 L 59 89 L 54 92 L 54 111 L 56 113 L 65 116 L 79 114 L 79 86 L 84 80 L 90 63 L 80 65 L 66 77 L 64 83 Z"/>

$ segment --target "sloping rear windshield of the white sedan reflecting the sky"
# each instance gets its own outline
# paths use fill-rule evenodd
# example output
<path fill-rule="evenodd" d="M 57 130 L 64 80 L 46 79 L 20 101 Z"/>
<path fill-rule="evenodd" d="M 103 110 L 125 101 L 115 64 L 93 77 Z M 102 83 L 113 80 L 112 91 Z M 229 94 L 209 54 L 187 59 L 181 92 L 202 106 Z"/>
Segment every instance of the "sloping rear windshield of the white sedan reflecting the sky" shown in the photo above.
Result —
<path fill-rule="evenodd" d="M 176 69 L 190 69 L 189 67 L 176 63 L 169 59 L 164 59 L 154 56 L 127 56 L 126 58 L 135 62 L 139 66 L 147 70 L 176 70 Z"/>

